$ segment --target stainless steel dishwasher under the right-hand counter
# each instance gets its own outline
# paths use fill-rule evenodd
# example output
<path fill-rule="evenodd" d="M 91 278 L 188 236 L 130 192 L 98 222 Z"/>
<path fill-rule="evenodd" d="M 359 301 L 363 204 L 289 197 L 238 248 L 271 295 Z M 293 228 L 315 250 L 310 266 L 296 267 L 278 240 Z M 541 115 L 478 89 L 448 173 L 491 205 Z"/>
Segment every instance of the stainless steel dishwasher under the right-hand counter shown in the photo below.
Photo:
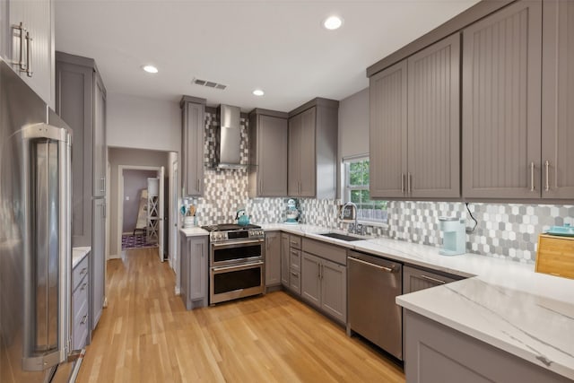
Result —
<path fill-rule="evenodd" d="M 403 360 L 403 265 L 349 251 L 347 335 L 359 334 Z"/>

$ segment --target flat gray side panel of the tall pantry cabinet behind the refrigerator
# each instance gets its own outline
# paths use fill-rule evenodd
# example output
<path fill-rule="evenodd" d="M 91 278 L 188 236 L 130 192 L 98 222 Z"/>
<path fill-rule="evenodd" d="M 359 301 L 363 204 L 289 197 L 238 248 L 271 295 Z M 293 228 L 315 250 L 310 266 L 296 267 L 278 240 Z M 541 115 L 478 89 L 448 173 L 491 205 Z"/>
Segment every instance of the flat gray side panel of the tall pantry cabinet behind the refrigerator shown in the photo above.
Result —
<path fill-rule="evenodd" d="M 74 131 L 72 243 L 91 246 L 93 69 L 57 61 L 56 112 Z"/>

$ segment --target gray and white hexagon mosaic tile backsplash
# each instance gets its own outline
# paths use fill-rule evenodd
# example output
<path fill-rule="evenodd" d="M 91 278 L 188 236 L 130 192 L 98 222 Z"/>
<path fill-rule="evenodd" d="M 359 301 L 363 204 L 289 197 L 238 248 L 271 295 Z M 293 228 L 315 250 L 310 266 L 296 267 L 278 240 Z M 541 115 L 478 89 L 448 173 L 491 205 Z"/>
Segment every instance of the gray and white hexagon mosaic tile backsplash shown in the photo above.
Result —
<path fill-rule="evenodd" d="M 197 206 L 199 225 L 232 222 L 239 208 L 245 208 L 251 222 L 283 222 L 287 198 L 249 198 L 248 170 L 219 170 L 216 130 L 219 120 L 214 109 L 205 113 L 204 196 L 192 199 Z M 248 164 L 248 118 L 241 118 L 241 163 Z M 304 198 L 299 200 L 300 222 L 347 230 L 337 220 L 340 200 Z M 574 205 L 469 204 L 478 222 L 466 234 L 467 251 L 489 257 L 509 257 L 534 262 L 538 234 L 550 226 L 574 225 Z M 390 201 L 384 226 L 365 225 L 365 233 L 430 246 L 442 244 L 439 216 L 465 218 L 467 229 L 474 221 L 464 203 Z"/>

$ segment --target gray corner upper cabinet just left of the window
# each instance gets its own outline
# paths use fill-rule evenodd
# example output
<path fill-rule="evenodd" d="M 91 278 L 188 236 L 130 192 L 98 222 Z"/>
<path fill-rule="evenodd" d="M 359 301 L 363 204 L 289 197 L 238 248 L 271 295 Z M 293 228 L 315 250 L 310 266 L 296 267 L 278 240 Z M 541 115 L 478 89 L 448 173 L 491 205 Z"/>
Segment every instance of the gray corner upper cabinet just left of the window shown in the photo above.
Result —
<path fill-rule="evenodd" d="M 336 196 L 338 108 L 315 99 L 289 114 L 289 196 Z"/>

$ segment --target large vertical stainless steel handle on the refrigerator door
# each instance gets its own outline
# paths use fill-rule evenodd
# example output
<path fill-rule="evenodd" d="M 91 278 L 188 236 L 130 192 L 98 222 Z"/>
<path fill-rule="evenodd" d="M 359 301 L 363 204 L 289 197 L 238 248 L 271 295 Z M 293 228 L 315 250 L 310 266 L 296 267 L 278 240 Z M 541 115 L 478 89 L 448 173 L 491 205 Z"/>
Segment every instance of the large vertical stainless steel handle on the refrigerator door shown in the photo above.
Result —
<path fill-rule="evenodd" d="M 23 370 L 65 361 L 71 334 L 71 135 L 65 128 L 22 128 L 30 214 L 25 283 Z"/>

